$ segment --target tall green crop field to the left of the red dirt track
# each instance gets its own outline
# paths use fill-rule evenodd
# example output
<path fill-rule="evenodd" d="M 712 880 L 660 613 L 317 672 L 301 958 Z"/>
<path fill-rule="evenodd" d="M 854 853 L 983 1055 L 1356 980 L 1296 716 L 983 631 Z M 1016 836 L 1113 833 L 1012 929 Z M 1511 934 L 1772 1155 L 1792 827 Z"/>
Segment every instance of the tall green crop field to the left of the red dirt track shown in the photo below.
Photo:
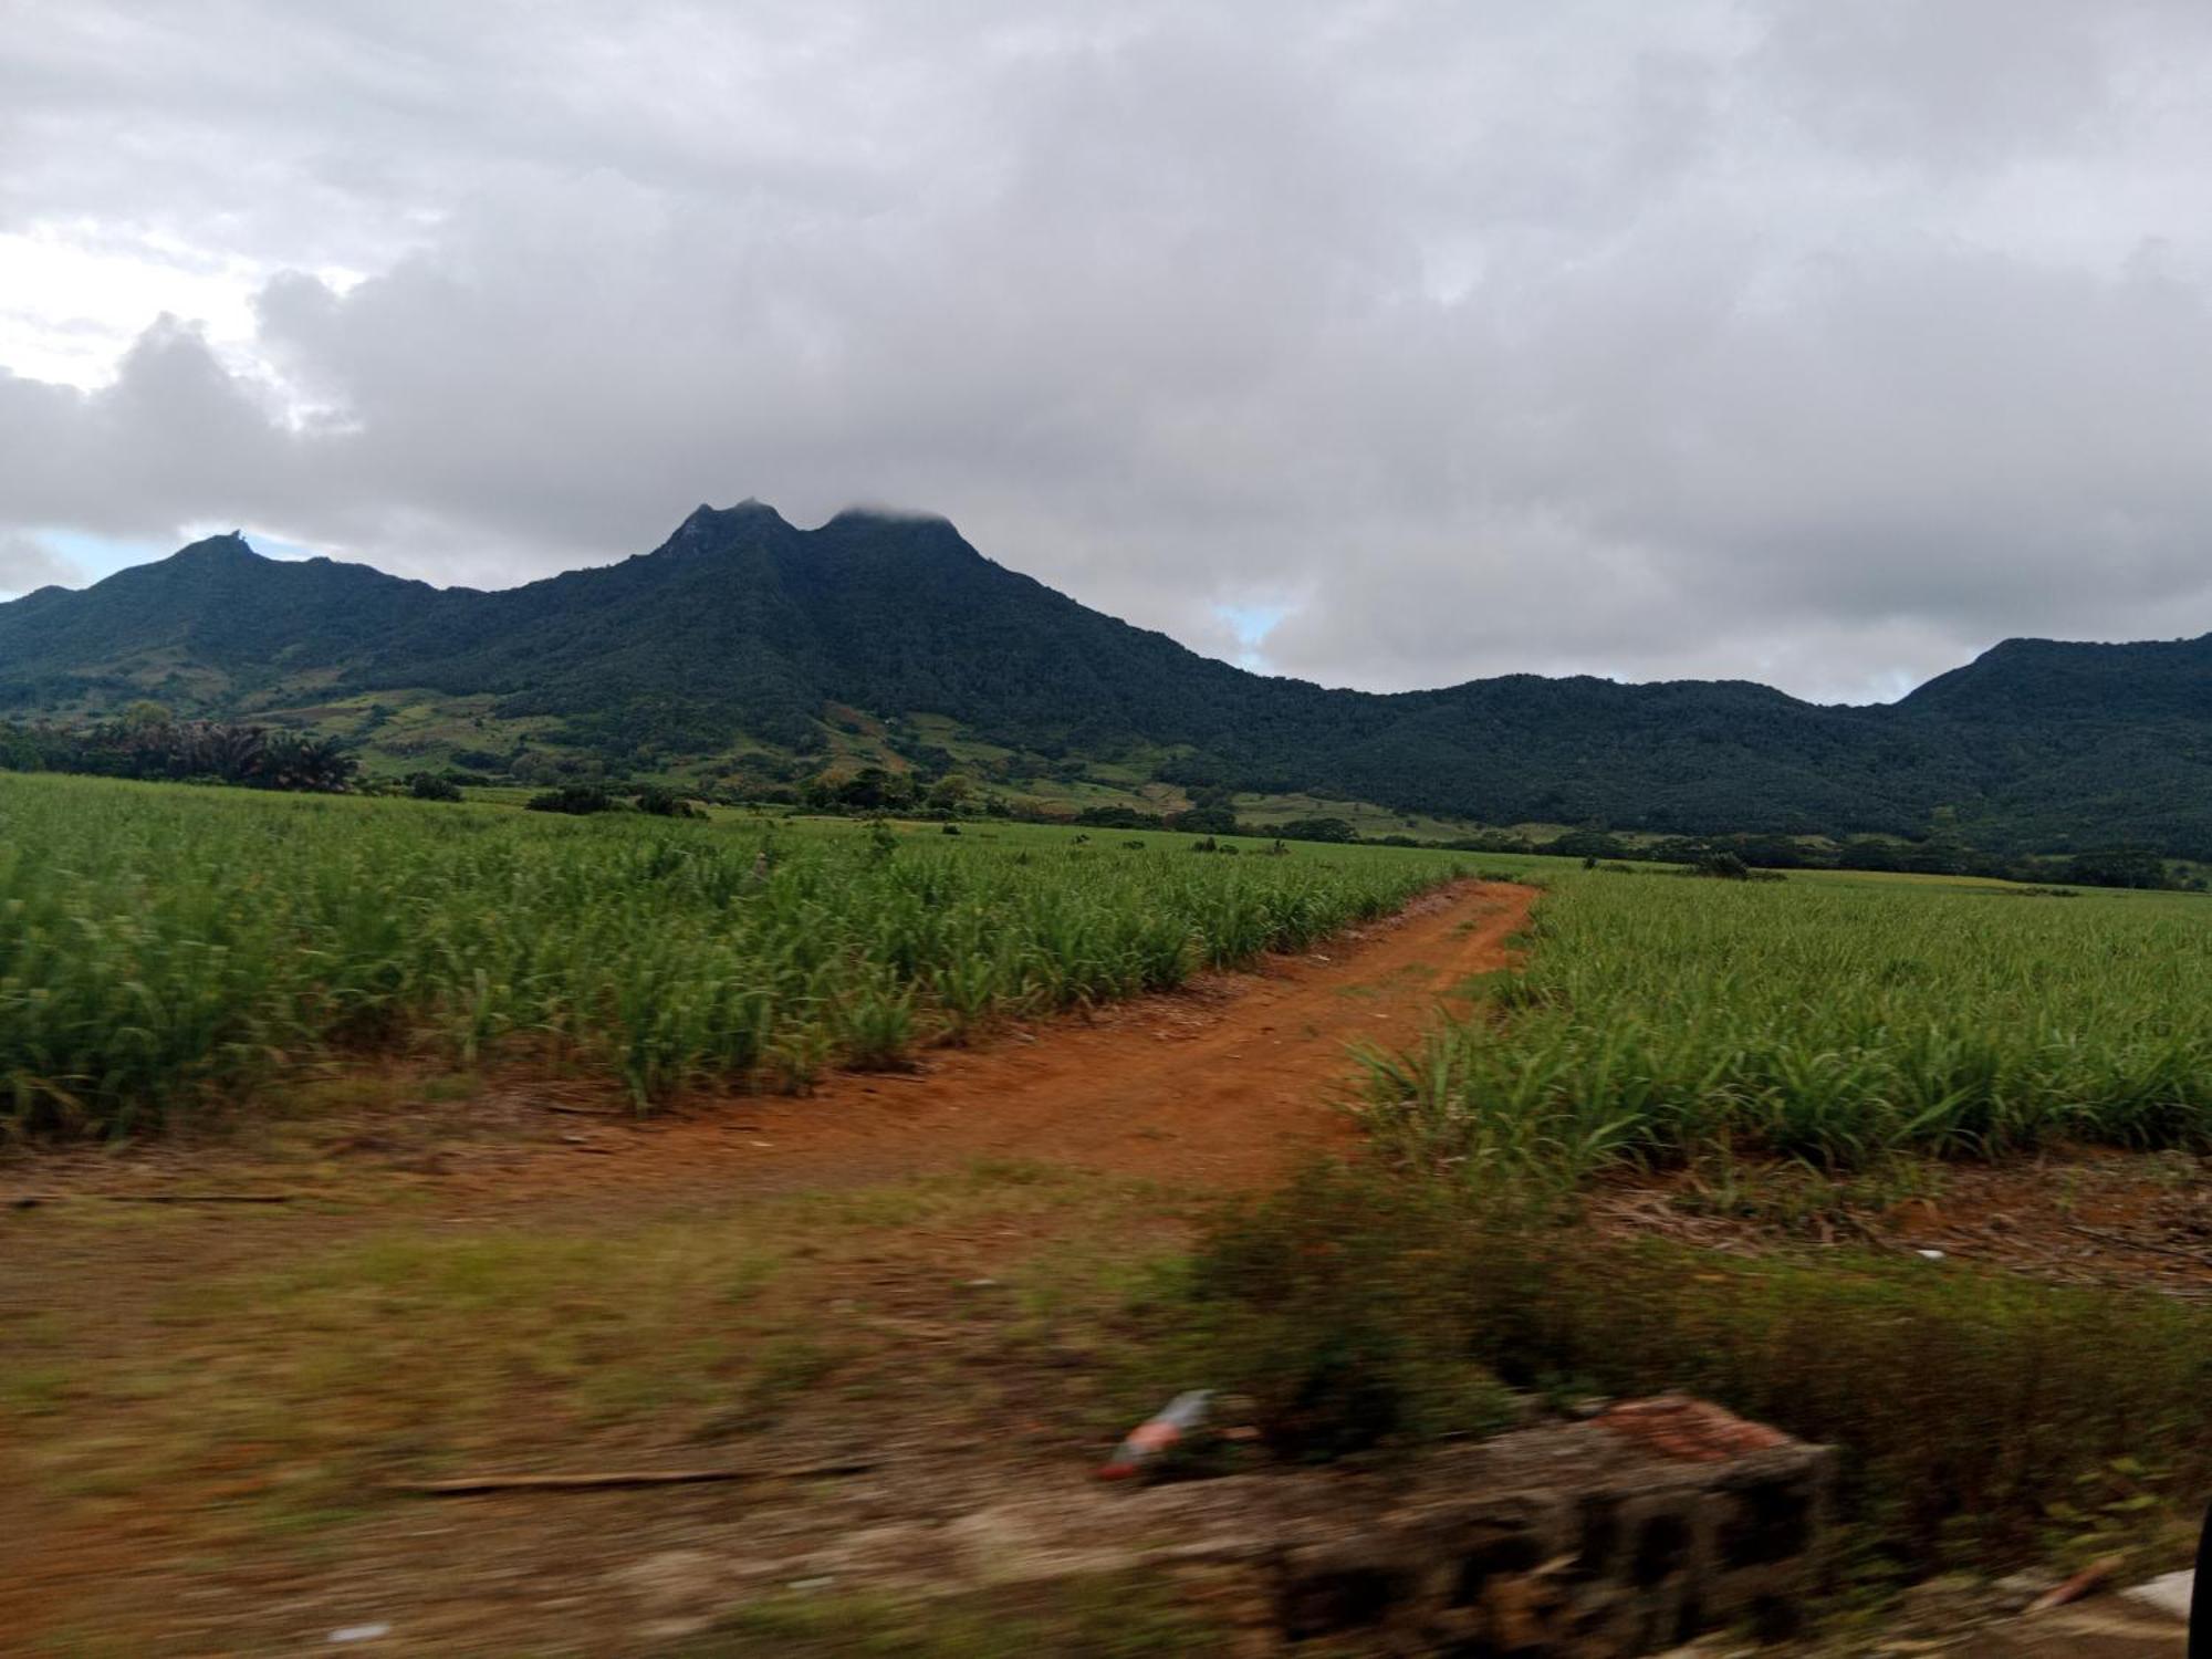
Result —
<path fill-rule="evenodd" d="M 400 1044 L 535 1046 L 641 1104 L 699 1079 L 803 1088 L 1298 949 L 1451 874 L 1183 845 L 0 774 L 0 1121 L 124 1130 Z"/>

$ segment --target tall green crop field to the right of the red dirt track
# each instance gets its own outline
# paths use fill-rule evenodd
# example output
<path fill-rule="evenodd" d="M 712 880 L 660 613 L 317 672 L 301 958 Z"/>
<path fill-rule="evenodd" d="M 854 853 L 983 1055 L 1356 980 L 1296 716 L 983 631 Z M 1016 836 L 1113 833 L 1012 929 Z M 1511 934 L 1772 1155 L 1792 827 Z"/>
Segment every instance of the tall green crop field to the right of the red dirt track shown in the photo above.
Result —
<path fill-rule="evenodd" d="M 1398 1148 L 1586 1172 L 2212 1141 L 2203 898 L 1571 872 L 1528 947 L 1475 1018 L 1371 1062 Z"/>

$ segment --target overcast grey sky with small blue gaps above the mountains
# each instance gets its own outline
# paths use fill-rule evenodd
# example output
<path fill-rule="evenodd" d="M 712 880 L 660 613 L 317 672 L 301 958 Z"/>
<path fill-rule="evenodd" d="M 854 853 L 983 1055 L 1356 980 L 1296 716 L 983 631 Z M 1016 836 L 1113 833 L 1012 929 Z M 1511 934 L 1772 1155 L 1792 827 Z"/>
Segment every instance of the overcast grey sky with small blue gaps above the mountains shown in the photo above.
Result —
<path fill-rule="evenodd" d="M 0 593 L 936 511 L 1210 655 L 2212 630 L 2197 0 L 0 0 Z"/>

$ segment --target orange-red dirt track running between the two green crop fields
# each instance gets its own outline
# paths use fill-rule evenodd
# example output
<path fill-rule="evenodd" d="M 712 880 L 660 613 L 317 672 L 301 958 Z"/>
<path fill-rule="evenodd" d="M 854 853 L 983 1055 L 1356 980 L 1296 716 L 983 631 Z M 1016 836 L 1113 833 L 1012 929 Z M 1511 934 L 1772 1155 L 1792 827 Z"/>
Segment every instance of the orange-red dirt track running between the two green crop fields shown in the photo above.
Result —
<path fill-rule="evenodd" d="M 1343 1110 L 1356 1046 L 1411 1044 L 1453 987 L 1506 967 L 1533 898 L 1458 883 L 1312 953 L 1006 1029 L 911 1073 L 836 1073 L 799 1097 L 695 1099 L 597 1133 L 591 1117 L 566 1117 L 575 1139 L 500 1170 L 484 1194 L 854 1186 L 978 1157 L 1256 1186 L 1356 1133 Z M 617 1155 L 577 1159 L 577 1148 Z"/>

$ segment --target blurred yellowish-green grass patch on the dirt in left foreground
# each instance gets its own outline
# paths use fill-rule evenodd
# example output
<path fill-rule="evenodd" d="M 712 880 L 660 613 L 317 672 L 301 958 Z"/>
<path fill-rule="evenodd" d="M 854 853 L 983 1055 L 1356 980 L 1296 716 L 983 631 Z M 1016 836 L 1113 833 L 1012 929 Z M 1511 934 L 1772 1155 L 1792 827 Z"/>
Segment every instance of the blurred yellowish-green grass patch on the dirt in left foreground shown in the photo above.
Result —
<path fill-rule="evenodd" d="M 270 1250 L 294 1241 L 281 1265 L 179 1279 L 128 1327 L 97 1305 L 27 1321 L 0 1358 L 0 1433 L 35 1438 L 22 1473 L 49 1498 L 159 1504 L 215 1482 L 248 1522 L 327 1531 L 312 1517 L 385 1480 L 759 1433 L 818 1396 L 832 1416 L 849 1396 L 982 1425 L 1013 1391 L 1126 1427 L 1148 1391 L 1126 1301 L 1186 1206 L 1000 1159 L 553 1230 L 378 1223 L 307 1250 L 263 1219 Z M 84 1214 L 49 1225 L 100 1221 Z"/>

